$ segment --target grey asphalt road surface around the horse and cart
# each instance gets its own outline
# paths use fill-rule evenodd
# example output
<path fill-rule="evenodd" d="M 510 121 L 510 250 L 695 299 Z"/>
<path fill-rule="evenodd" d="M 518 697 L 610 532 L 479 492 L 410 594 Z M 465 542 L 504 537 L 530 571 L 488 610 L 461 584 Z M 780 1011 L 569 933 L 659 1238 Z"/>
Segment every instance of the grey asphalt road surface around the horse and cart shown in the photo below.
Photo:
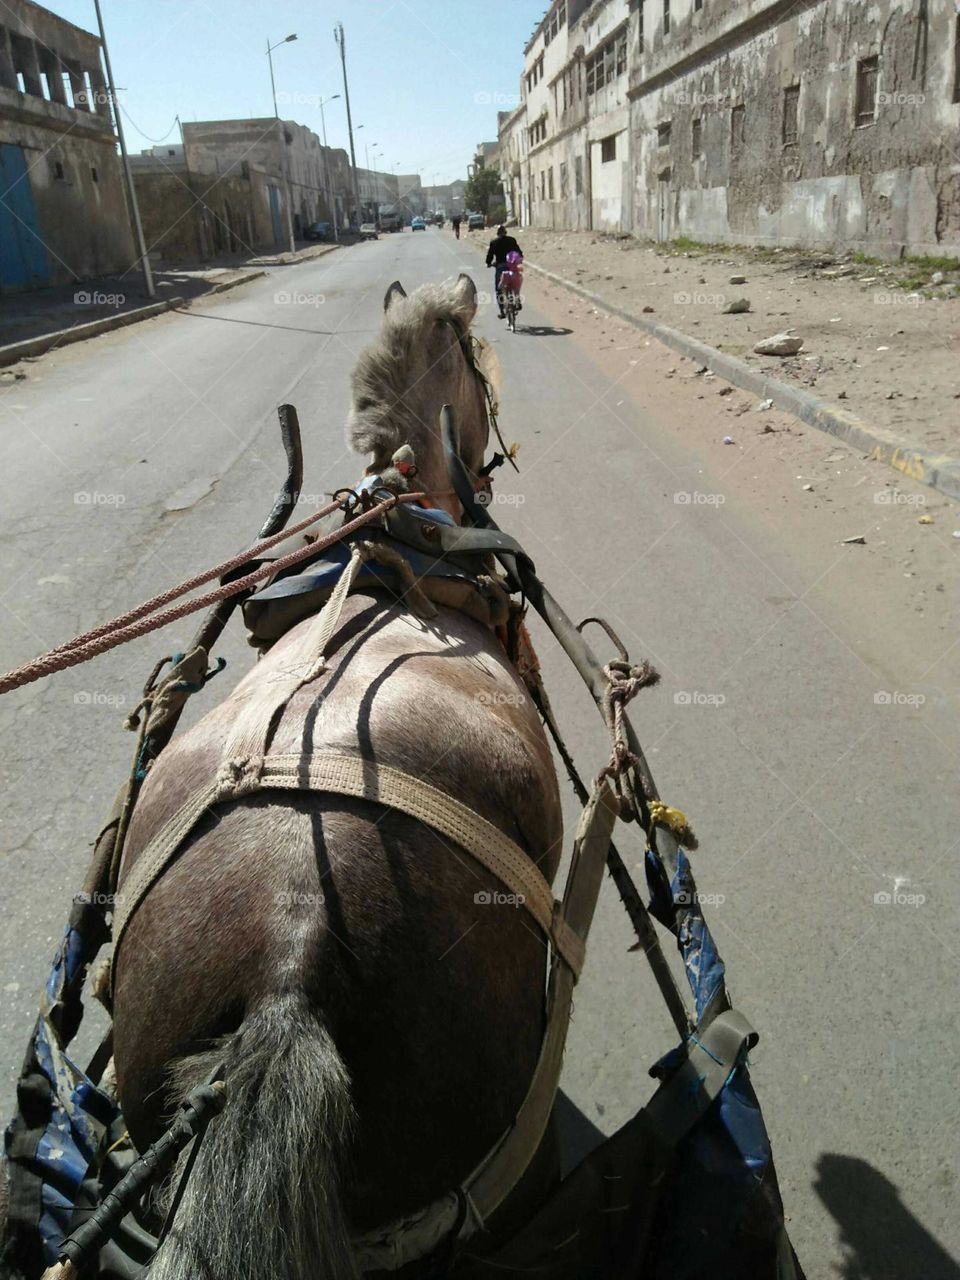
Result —
<path fill-rule="evenodd" d="M 300 410 L 307 498 L 356 479 L 348 375 L 383 292 L 461 266 L 489 288 L 470 243 L 389 236 L 28 366 L 0 393 L 3 668 L 248 541 L 283 483 L 279 403 Z M 531 282 L 532 332 L 507 334 L 489 306 L 479 321 L 500 355 L 504 431 L 524 444 L 495 515 L 573 617 L 604 613 L 663 676 L 635 723 L 664 797 L 698 829 L 699 887 L 717 899 L 731 989 L 762 1034 L 754 1082 L 796 1248 L 812 1280 L 957 1280 L 955 636 L 891 612 L 860 548 L 818 566 L 819 517 L 800 525 L 771 503 L 776 475 L 760 495 L 746 472 L 722 474 L 662 388 L 635 376 L 649 343 L 564 324 L 556 291 L 541 303 Z M 952 593 L 956 561 L 945 564 Z M 0 700 L 4 1111 L 129 763 L 123 717 L 189 630 Z M 599 721 L 539 639 L 591 774 Z M 252 655 L 236 627 L 220 652 L 224 687 Z M 563 1080 L 584 1133 L 611 1133 L 643 1103 L 646 1069 L 673 1042 L 630 941 L 611 886 Z"/>

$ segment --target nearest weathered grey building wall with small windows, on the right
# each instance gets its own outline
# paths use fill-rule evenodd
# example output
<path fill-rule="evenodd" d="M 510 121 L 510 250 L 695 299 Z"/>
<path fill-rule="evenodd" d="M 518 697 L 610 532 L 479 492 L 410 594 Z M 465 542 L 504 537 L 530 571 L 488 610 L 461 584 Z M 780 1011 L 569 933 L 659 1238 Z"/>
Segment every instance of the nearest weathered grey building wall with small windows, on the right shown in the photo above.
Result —
<path fill-rule="evenodd" d="M 672 0 L 669 32 L 648 9 L 631 70 L 639 234 L 960 252 L 954 0 L 717 0 L 699 13 Z M 858 123 L 869 58 L 876 114 Z"/>

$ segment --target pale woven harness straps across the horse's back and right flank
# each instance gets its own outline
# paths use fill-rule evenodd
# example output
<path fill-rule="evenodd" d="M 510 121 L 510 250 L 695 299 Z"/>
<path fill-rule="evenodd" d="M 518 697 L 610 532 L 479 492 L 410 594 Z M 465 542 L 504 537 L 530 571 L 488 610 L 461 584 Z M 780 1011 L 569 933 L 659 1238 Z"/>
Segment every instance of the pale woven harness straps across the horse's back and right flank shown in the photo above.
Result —
<path fill-rule="evenodd" d="M 407 541 L 420 540 L 421 545 L 430 547 L 434 562 L 466 553 L 474 561 L 474 572 L 468 572 L 466 563 L 460 566 L 460 572 L 472 584 L 479 577 L 476 557 L 493 549 L 492 543 L 498 550 L 522 554 L 506 534 L 497 532 L 492 538 L 490 531 L 448 525 L 436 518 L 438 515 L 415 516 L 397 508 L 392 516 L 399 518 L 393 527 L 399 529 Z M 530 1087 L 511 1128 L 460 1187 L 412 1219 L 388 1224 L 355 1240 L 357 1261 L 365 1271 L 392 1271 L 428 1256 L 458 1224 L 458 1236 L 463 1239 L 479 1230 L 517 1185 L 543 1140 L 559 1084 L 573 986 L 584 964 L 617 806 L 608 785 L 599 783 L 581 815 L 563 899 L 558 901 L 529 854 L 454 796 L 401 769 L 356 755 L 270 754 L 269 726 L 276 722 L 278 712 L 297 690 L 326 669 L 343 605 L 370 554 L 358 545 L 351 549 L 347 566 L 338 567 L 339 577 L 328 590 L 323 609 L 284 652 L 270 678 L 261 681 L 241 708 L 216 772 L 154 835 L 124 877 L 116 895 L 111 964 L 115 972 L 133 915 L 201 818 L 215 805 L 264 790 L 317 791 L 388 805 L 466 850 L 517 896 L 518 905 L 549 945 L 547 1028 Z M 287 590 L 274 593 L 270 599 L 296 600 L 311 594 L 298 590 L 302 584 L 292 579 L 282 580 L 282 585 Z M 298 608 L 303 603 L 300 599 Z M 256 616 L 256 609 L 253 613 Z"/>

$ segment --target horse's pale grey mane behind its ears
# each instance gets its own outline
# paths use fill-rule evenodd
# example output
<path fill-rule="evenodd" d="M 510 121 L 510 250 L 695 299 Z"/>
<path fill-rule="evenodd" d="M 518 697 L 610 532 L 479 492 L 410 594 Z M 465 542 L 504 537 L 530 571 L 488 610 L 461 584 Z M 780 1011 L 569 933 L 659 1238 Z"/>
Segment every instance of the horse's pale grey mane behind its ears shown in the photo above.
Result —
<path fill-rule="evenodd" d="M 417 404 L 428 394 L 429 374 L 449 378 L 449 352 L 461 362 L 454 376 L 472 376 L 460 357 L 457 334 L 470 332 L 475 312 L 472 285 L 467 293 L 457 280 L 421 284 L 410 296 L 393 298 L 376 342 L 361 353 L 353 370 L 347 420 L 352 449 L 383 462 L 402 444 L 412 445 L 417 454 L 430 448 L 436 422 L 425 421 Z M 445 332 L 439 328 L 444 323 Z"/>

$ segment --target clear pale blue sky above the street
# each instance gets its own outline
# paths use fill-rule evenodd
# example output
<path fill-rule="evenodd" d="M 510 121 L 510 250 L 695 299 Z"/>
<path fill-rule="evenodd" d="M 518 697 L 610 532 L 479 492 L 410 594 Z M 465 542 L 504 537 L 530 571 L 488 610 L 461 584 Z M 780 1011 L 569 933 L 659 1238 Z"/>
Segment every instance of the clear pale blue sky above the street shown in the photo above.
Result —
<path fill-rule="evenodd" d="M 93 0 L 45 0 L 96 29 Z M 547 0 L 101 0 L 131 151 L 179 141 L 174 118 L 271 115 L 266 40 L 280 114 L 320 133 L 319 97 L 343 92 L 333 28 L 347 33 L 357 164 L 425 183 L 466 177 L 477 142 L 497 137 L 497 110 L 516 104 L 524 45 Z M 343 97 L 324 108 L 330 146 L 347 146 Z"/>

